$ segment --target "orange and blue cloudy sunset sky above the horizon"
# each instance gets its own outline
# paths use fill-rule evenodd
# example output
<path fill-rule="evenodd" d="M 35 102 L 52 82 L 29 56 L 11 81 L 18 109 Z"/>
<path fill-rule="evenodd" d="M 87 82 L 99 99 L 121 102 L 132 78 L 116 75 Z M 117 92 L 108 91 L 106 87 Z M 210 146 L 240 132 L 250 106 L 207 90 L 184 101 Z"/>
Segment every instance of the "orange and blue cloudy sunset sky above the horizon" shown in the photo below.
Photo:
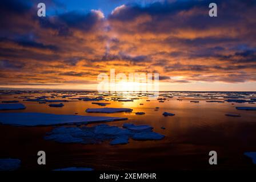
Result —
<path fill-rule="evenodd" d="M 159 73 L 160 90 L 256 91 L 255 12 L 253 0 L 1 0 L 0 88 L 95 90 L 115 69 Z"/>

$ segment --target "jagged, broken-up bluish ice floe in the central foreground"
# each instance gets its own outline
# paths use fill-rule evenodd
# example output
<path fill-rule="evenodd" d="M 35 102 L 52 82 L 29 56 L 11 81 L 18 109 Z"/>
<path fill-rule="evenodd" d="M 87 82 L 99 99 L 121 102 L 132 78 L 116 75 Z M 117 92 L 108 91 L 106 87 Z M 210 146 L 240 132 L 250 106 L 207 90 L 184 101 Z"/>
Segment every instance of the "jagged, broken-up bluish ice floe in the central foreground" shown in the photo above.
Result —
<path fill-rule="evenodd" d="M 154 133 L 149 125 L 124 124 L 123 128 L 105 124 L 92 127 L 55 127 L 47 133 L 46 140 L 60 143 L 97 144 L 110 140 L 111 145 L 127 144 L 134 140 L 160 140 L 165 136 Z"/>

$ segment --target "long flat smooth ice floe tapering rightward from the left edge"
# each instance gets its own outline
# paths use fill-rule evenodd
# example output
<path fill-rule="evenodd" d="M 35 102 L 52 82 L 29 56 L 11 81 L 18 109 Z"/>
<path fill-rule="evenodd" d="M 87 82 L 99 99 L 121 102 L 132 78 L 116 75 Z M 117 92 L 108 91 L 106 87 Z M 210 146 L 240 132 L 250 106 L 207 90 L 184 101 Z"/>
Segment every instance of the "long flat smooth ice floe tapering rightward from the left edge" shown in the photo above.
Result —
<path fill-rule="evenodd" d="M 47 126 L 73 123 L 121 121 L 127 118 L 47 113 L 0 113 L 0 123 L 16 126 Z"/>

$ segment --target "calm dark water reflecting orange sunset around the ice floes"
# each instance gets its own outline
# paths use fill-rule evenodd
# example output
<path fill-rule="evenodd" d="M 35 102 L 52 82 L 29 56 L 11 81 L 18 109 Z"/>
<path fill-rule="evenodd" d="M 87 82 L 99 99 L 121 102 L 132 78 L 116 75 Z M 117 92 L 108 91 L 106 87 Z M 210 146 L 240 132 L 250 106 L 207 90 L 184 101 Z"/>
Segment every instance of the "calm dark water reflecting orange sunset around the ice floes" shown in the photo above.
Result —
<path fill-rule="evenodd" d="M 75 95 L 62 98 L 63 95 Z M 225 101 L 223 97 L 239 97 L 250 100 L 256 93 L 225 92 L 165 92 L 165 102 L 151 100 L 145 94 L 126 93 L 105 96 L 110 105 L 107 107 L 127 107 L 132 113 L 86 113 L 87 108 L 102 106 L 91 104 L 95 101 L 70 100 L 63 102 L 65 106 L 49 107 L 48 104 L 23 101 L 22 96 L 51 96 L 50 100 L 70 100 L 75 97 L 97 97 L 97 92 L 2 92 L 1 101 L 18 100 L 26 105 L 25 110 L 2 112 L 40 112 L 53 114 L 101 115 L 110 117 L 127 117 L 127 121 L 109 122 L 108 125 L 122 126 L 123 123 L 146 124 L 154 127 L 154 131 L 166 137 L 157 141 L 135 141 L 128 144 L 110 146 L 109 142 L 101 144 L 63 144 L 43 137 L 53 129 L 47 127 L 15 127 L 0 126 L 0 158 L 19 158 L 22 160 L 21 170 L 54 169 L 63 167 L 92 167 L 101 169 L 256 169 L 251 160 L 243 155 L 246 151 L 256 151 L 256 111 L 237 110 L 236 106 L 255 106 L 255 104 Z M 168 97 L 166 97 L 168 96 Z M 113 97 L 139 98 L 133 102 L 113 101 Z M 172 97 L 172 98 L 170 98 Z M 182 101 L 179 101 L 179 100 Z M 150 100 L 150 101 L 146 101 Z M 190 101 L 199 101 L 193 103 Z M 143 104 L 143 105 L 140 105 Z M 159 110 L 155 111 L 155 107 Z M 143 111 L 145 115 L 135 115 Z M 164 111 L 174 113 L 173 117 L 164 117 Z M 227 117 L 225 114 L 241 114 L 242 117 Z M 98 123 L 91 124 L 98 125 Z M 89 126 L 91 126 L 89 125 Z M 163 130 L 161 127 L 165 127 Z M 46 152 L 45 166 L 38 166 L 37 151 Z M 209 151 L 218 153 L 218 165 L 210 166 Z"/>

